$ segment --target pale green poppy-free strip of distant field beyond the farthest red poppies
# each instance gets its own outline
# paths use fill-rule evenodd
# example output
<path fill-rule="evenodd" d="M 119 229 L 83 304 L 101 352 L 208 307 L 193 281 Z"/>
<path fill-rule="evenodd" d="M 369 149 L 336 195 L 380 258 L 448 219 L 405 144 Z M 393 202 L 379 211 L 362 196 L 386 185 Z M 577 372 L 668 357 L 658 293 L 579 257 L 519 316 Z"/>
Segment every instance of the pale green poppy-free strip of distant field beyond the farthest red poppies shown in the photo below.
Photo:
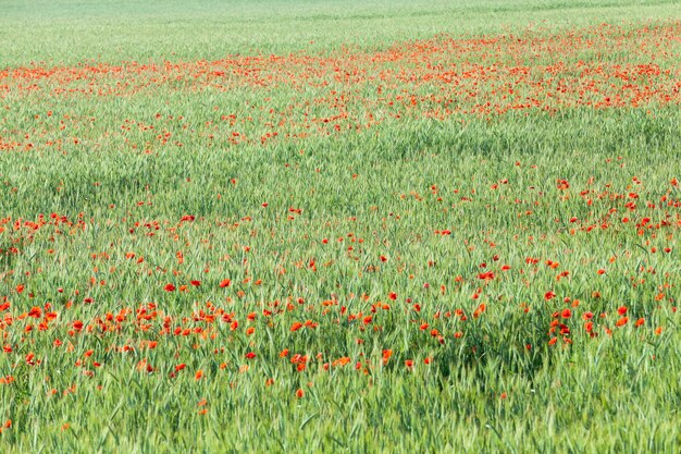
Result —
<path fill-rule="evenodd" d="M 326 54 L 344 47 L 531 32 L 559 34 L 608 23 L 678 21 L 671 0 L 250 2 L 164 0 L 0 2 L 0 69 L 220 60 L 226 54 Z M 200 24 L 200 25 L 197 25 Z M 102 39 L 106 37 L 106 39 Z"/>

